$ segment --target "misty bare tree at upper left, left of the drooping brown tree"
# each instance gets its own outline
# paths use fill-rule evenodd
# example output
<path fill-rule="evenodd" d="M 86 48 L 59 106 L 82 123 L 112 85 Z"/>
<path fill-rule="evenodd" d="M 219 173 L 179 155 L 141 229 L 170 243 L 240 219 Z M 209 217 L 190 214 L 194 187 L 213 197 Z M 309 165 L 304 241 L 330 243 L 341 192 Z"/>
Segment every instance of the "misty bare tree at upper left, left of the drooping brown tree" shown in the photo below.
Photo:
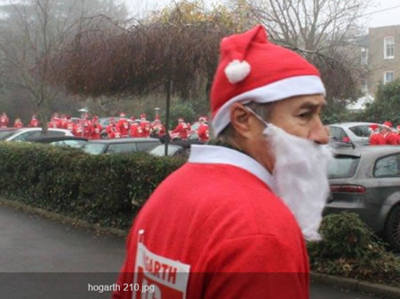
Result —
<path fill-rule="evenodd" d="M 57 98 L 64 96 L 64 86 L 51 84 L 54 72 L 51 53 L 68 35 L 84 23 L 89 14 L 115 12 L 113 17 L 126 17 L 123 4 L 107 6 L 92 0 L 9 0 L 0 7 L 5 18 L 0 27 L 0 82 L 9 89 L 26 90 L 46 130 L 46 121 Z M 114 9 L 114 11 L 113 11 Z"/>

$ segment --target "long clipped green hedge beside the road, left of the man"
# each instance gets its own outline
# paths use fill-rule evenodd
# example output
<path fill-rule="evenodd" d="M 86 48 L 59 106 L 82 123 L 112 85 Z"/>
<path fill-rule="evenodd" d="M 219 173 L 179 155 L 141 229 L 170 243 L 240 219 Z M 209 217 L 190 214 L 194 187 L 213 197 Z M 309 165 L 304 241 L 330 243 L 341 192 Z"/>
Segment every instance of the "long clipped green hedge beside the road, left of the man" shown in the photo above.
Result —
<path fill-rule="evenodd" d="M 0 143 L 0 195 L 92 224 L 128 229 L 150 193 L 185 162 L 148 153 Z"/>

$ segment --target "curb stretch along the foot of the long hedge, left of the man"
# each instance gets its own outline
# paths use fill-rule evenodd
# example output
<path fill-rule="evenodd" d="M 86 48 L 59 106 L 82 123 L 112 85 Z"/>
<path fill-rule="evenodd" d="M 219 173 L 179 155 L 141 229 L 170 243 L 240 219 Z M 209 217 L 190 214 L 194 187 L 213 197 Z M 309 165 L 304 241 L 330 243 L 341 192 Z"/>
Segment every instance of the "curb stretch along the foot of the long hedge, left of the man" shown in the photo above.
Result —
<path fill-rule="evenodd" d="M 40 208 L 35 208 L 32 206 L 28 206 L 24 203 L 21 203 L 19 201 L 11 201 L 11 200 L 6 200 L 4 198 L 0 197 L 0 204 L 3 204 L 4 206 L 8 206 L 8 207 L 12 207 L 15 209 L 21 209 L 25 212 L 28 213 L 33 213 L 33 214 L 37 214 L 40 216 L 44 216 L 46 218 L 52 219 L 52 220 L 57 220 L 60 221 L 62 223 L 67 223 L 67 224 L 71 224 L 71 225 L 75 225 L 81 228 L 87 228 L 87 229 L 91 229 L 93 231 L 96 232 L 103 232 L 103 233 L 112 233 L 115 234 L 119 237 L 126 237 L 128 235 L 127 231 L 121 230 L 121 229 L 117 229 L 117 228 L 113 228 L 113 227 L 103 227 L 100 226 L 100 224 L 91 224 L 85 220 L 81 220 L 78 218 L 74 218 L 74 217 L 70 217 L 70 216 L 64 216 L 64 215 L 60 215 L 57 213 L 53 213 L 53 212 L 49 212 L 46 211 L 45 209 L 40 209 Z"/>

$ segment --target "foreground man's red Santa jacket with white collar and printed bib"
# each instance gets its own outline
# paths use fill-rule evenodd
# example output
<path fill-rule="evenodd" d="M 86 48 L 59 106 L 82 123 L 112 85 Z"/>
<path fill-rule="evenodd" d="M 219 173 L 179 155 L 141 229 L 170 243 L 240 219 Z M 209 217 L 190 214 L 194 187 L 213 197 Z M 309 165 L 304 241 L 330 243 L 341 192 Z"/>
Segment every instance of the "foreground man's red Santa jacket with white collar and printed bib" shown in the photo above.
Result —
<path fill-rule="evenodd" d="M 309 297 L 305 242 L 268 171 L 215 147 L 192 146 L 140 210 L 114 299 L 131 299 L 124 286 L 145 280 L 157 298 Z"/>

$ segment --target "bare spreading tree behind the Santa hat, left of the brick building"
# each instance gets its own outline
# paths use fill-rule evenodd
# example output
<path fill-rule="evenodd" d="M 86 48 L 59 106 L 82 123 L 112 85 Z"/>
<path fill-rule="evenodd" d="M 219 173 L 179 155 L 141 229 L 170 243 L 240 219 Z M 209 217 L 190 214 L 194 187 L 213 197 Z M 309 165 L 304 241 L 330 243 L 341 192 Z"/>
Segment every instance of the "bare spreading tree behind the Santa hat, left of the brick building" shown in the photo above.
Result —
<path fill-rule="evenodd" d="M 355 41 L 363 30 L 363 0 L 236 0 L 270 39 L 307 57 L 322 71 L 328 99 L 355 98 L 367 69 Z M 231 4 L 232 5 L 232 4 Z"/>

